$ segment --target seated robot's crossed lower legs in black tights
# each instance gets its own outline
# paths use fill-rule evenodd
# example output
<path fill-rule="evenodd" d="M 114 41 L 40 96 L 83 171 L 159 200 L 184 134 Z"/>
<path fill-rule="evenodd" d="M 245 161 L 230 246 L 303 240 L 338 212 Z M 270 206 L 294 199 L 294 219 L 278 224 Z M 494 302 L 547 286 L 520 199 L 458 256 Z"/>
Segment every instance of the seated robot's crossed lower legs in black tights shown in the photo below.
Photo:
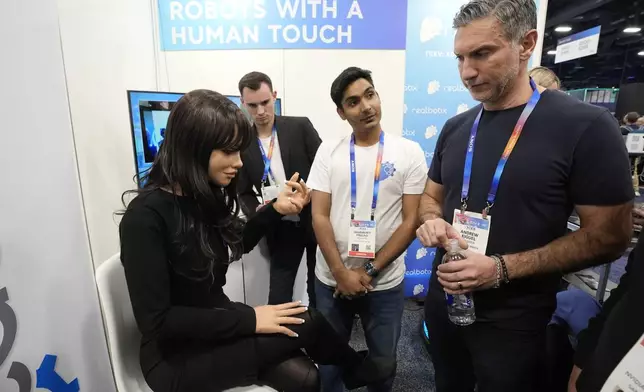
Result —
<path fill-rule="evenodd" d="M 362 361 L 317 310 L 310 308 L 295 317 L 305 320 L 304 324 L 289 326 L 298 338 L 286 335 L 256 337 L 261 383 L 283 392 L 317 392 L 320 380 L 314 361 L 341 367 L 352 367 Z"/>

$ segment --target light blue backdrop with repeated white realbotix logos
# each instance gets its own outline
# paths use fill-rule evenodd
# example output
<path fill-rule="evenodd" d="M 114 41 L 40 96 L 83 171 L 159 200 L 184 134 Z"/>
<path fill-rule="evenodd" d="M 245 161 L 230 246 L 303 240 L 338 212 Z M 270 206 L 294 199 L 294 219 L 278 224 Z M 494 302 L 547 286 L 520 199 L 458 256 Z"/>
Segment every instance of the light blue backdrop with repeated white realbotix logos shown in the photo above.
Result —
<path fill-rule="evenodd" d="M 407 4 L 403 136 L 420 144 L 428 165 L 445 122 L 478 104 L 463 86 L 454 56 L 452 20 L 467 2 L 409 0 Z M 407 249 L 407 297 L 425 296 L 435 254 L 435 249 L 426 249 L 417 240 Z"/>

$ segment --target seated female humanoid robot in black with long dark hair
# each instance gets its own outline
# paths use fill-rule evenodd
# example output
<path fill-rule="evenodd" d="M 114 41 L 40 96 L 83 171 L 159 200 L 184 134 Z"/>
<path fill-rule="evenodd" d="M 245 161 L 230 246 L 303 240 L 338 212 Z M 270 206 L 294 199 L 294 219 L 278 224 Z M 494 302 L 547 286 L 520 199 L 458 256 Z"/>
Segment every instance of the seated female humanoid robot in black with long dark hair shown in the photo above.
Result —
<path fill-rule="evenodd" d="M 393 363 L 364 360 L 317 311 L 297 302 L 252 308 L 224 294 L 229 264 L 309 199 L 303 181 L 289 181 L 248 222 L 239 218 L 239 151 L 254 138 L 241 110 L 223 95 L 186 94 L 170 114 L 145 188 L 124 213 L 121 260 L 147 383 L 154 392 L 258 382 L 317 391 L 315 366 L 302 348 L 318 363 L 340 365 L 350 387 L 388 377 Z"/>

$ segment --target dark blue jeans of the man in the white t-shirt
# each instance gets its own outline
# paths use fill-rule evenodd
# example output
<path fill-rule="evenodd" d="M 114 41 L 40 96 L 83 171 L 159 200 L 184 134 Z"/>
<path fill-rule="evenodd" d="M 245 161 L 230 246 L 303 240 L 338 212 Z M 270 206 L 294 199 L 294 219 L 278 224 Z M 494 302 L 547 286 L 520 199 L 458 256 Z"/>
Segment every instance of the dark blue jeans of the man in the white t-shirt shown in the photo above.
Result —
<path fill-rule="evenodd" d="M 335 299 L 334 287 L 329 287 L 317 278 L 315 293 L 318 310 L 338 334 L 347 342 L 351 338 L 354 316 L 362 320 L 367 347 L 371 357 L 396 359 L 404 308 L 403 284 L 383 291 L 372 291 L 364 297 L 348 300 Z M 342 392 L 340 370 L 336 366 L 320 366 L 323 392 Z M 370 385 L 370 392 L 392 390 L 395 375 L 378 385 Z"/>

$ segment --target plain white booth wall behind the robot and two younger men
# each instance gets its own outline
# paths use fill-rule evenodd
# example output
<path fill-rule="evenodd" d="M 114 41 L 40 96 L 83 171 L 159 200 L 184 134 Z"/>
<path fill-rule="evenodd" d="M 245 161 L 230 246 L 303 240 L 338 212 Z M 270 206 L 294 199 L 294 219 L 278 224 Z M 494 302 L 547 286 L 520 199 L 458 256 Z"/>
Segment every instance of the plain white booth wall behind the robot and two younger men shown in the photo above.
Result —
<path fill-rule="evenodd" d="M 329 96 L 346 67 L 373 71 L 383 127 L 402 134 L 405 52 L 249 50 L 161 52 L 156 1 L 58 0 L 71 115 L 94 263 L 118 251 L 121 193 L 135 186 L 126 90 L 238 95 L 237 82 L 259 70 L 273 80 L 286 115 L 307 116 L 322 139 L 350 132 Z"/>

